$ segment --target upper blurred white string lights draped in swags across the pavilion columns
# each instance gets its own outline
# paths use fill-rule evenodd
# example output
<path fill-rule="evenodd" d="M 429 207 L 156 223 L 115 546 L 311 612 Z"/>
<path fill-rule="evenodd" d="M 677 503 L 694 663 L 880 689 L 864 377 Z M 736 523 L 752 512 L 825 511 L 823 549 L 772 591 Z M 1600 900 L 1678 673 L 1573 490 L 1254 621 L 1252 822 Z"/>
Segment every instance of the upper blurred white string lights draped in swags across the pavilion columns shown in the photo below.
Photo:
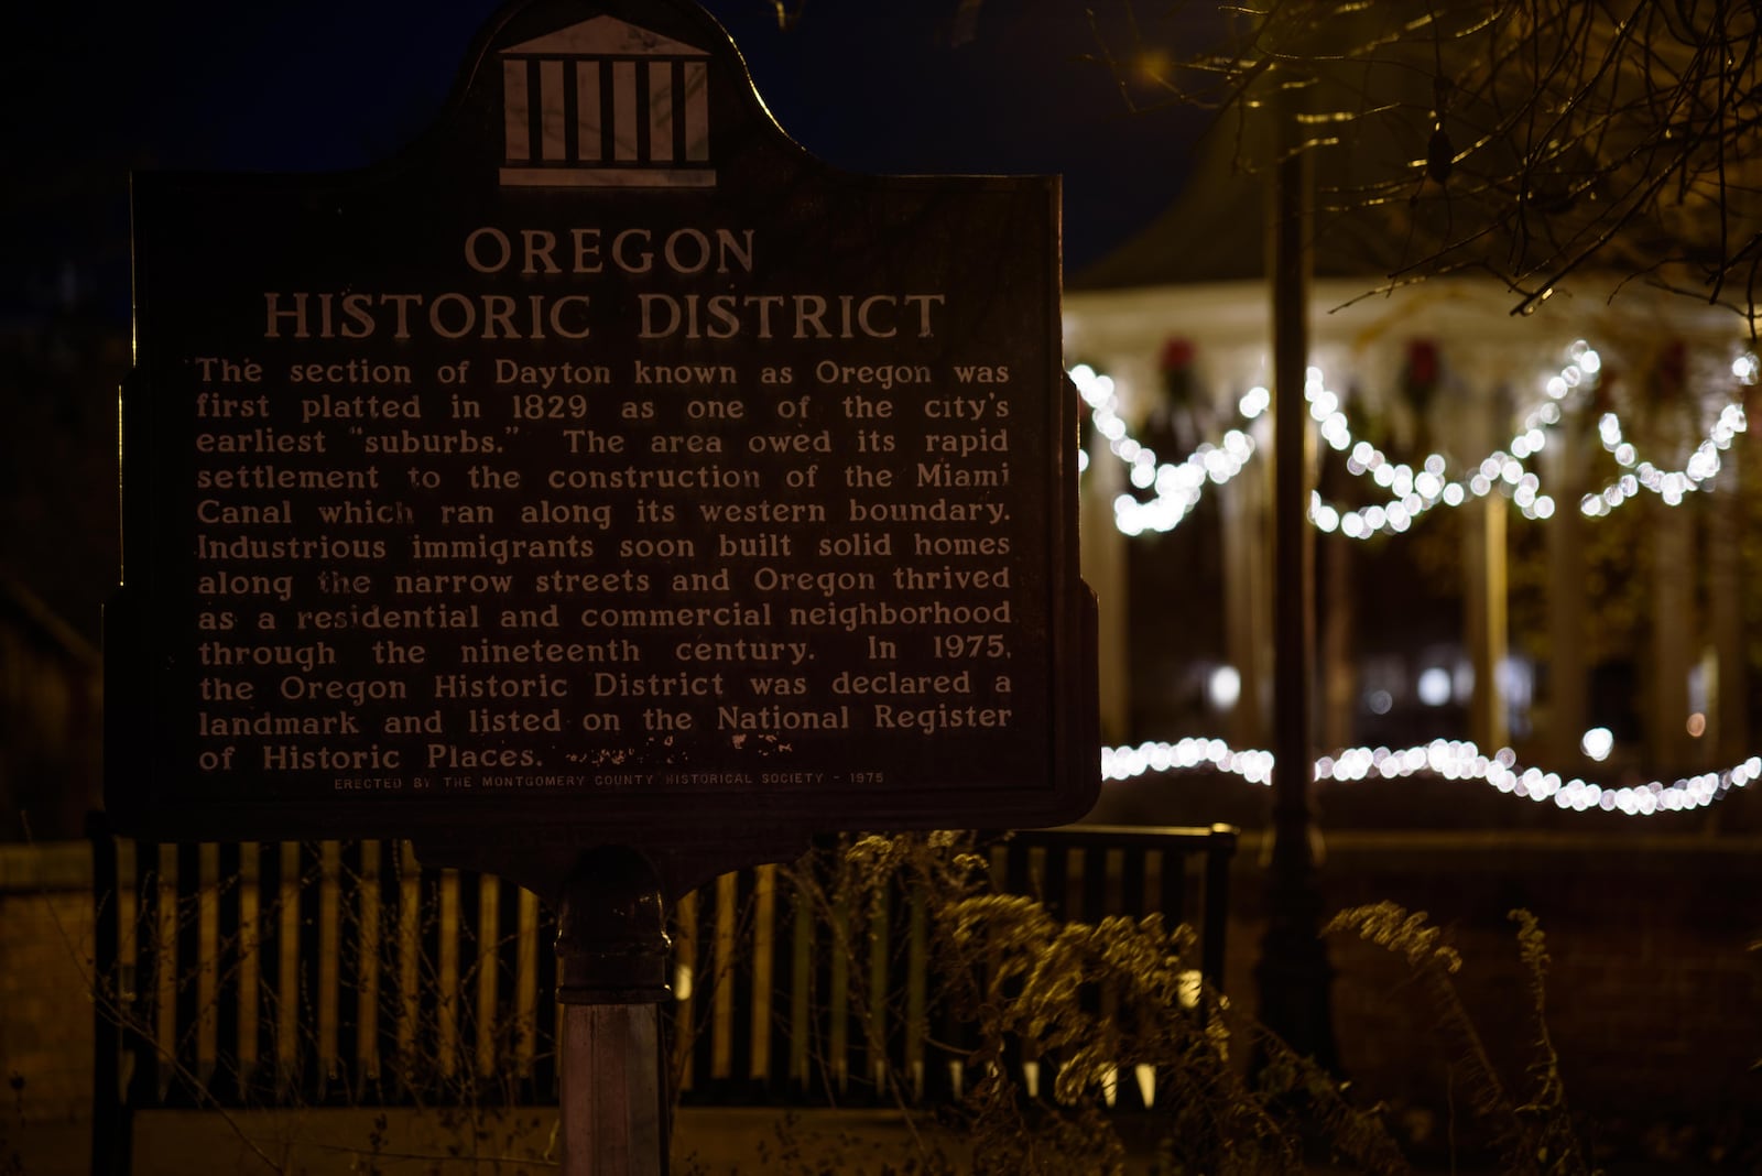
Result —
<path fill-rule="evenodd" d="M 1542 493 L 1540 477 L 1524 468 L 1524 459 L 1547 447 L 1549 431 L 1563 419 L 1561 403 L 1584 396 L 1595 386 L 1602 366 L 1602 356 L 1584 340 L 1575 340 L 1566 349 L 1566 363 L 1544 382 L 1547 398 L 1526 414 L 1522 430 L 1505 449 L 1492 451 L 1477 467 L 1470 467 L 1466 477 L 1454 481 L 1445 475 L 1443 454 L 1431 452 L 1418 468 L 1413 468 L 1390 459 L 1366 440 L 1353 440 L 1339 394 L 1327 387 L 1320 368 L 1309 368 L 1304 400 L 1309 415 L 1320 426 L 1322 438 L 1337 452 L 1350 451 L 1348 474 L 1371 479 L 1387 491 L 1387 498 L 1380 503 L 1344 511 L 1311 491 L 1309 521 L 1327 533 L 1371 539 L 1378 533 L 1408 530 L 1415 519 L 1440 503 L 1459 507 L 1470 498 L 1485 498 L 1494 489 L 1510 495 L 1528 519 L 1552 518 L 1554 498 Z M 1753 354 L 1741 356 L 1732 363 L 1732 377 L 1739 384 L 1755 384 L 1758 366 L 1762 364 Z M 1242 472 L 1255 452 L 1253 437 L 1233 428 L 1225 433 L 1223 445 L 1202 444 L 1186 461 L 1159 461 L 1156 452 L 1138 444 L 1126 428 L 1110 377 L 1078 364 L 1071 370 L 1071 382 L 1091 407 L 1096 430 L 1108 438 L 1108 449 L 1128 463 L 1131 484 L 1156 491 L 1149 502 L 1140 502 L 1135 495 L 1119 495 L 1114 500 L 1114 523 L 1126 535 L 1173 530 L 1198 505 L 1207 482 L 1223 486 Z M 1244 421 L 1255 421 L 1270 405 L 1270 393 L 1255 386 L 1240 398 L 1237 410 Z M 1679 505 L 1683 495 L 1700 489 L 1720 472 L 1720 451 L 1729 449 L 1736 435 L 1746 428 L 1743 405 L 1732 400 L 1720 408 L 1718 419 L 1695 447 L 1688 465 L 1683 470 L 1662 470 L 1639 459 L 1637 449 L 1623 438 L 1616 414 L 1603 414 L 1598 424 L 1603 447 L 1632 472 L 1619 475 L 1600 495 L 1586 495 L 1581 511 L 1593 518 L 1605 516 L 1642 488 L 1658 493 L 1669 505 Z M 1087 454 L 1082 456 L 1080 468 L 1087 468 Z"/>

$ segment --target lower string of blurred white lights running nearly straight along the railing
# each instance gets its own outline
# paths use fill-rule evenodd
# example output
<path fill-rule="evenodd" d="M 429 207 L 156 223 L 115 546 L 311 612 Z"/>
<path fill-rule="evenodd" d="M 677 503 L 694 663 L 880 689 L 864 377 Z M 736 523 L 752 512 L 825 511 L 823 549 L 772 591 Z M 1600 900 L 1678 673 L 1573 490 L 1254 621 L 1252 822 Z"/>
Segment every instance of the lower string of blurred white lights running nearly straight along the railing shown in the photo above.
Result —
<path fill-rule="evenodd" d="M 1181 739 L 1179 743 L 1140 743 L 1138 746 L 1101 748 L 1101 778 L 1129 780 L 1147 771 L 1195 771 L 1210 768 L 1242 776 L 1249 783 L 1272 783 L 1272 752 L 1237 752 L 1223 739 Z M 1670 783 L 1603 787 L 1589 780 L 1563 778 L 1540 768 L 1519 768 L 1512 748 L 1484 755 L 1466 739 L 1433 739 L 1406 750 L 1346 748 L 1337 755 L 1323 755 L 1314 764 L 1311 780 L 1399 780 L 1420 773 L 1445 780 L 1480 780 L 1508 796 L 1531 801 L 1554 801 L 1556 808 L 1588 812 L 1619 812 L 1628 817 L 1692 812 L 1723 799 L 1732 789 L 1743 789 L 1751 780 L 1762 780 L 1762 755 L 1725 771 L 1704 771 Z"/>

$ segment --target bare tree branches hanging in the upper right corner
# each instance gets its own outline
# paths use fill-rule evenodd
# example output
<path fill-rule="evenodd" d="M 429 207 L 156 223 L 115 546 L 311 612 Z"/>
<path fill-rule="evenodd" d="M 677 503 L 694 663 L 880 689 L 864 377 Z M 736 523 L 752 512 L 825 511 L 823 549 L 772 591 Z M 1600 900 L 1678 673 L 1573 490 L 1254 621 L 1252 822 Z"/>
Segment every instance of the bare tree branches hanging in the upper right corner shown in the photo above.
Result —
<path fill-rule="evenodd" d="M 1131 11 L 1138 0 L 1114 4 Z M 1644 275 L 1734 310 L 1757 336 L 1762 18 L 1753 4 L 1212 7 L 1214 37 L 1202 46 L 1154 42 L 1173 26 L 1168 9 L 1129 21 L 1115 33 L 1126 44 L 1107 44 L 1096 21 L 1096 58 L 1122 77 L 1126 100 L 1140 102 L 1126 63 L 1154 55 L 1165 63 L 1158 100 L 1233 114 L 1239 165 L 1249 169 L 1274 162 L 1244 130 L 1260 118 L 1262 95 L 1300 92 L 1318 211 L 1381 218 L 1399 254 L 1383 259 L 1390 282 L 1485 269 L 1521 292 L 1514 313 L 1524 313 L 1572 275 Z"/>

